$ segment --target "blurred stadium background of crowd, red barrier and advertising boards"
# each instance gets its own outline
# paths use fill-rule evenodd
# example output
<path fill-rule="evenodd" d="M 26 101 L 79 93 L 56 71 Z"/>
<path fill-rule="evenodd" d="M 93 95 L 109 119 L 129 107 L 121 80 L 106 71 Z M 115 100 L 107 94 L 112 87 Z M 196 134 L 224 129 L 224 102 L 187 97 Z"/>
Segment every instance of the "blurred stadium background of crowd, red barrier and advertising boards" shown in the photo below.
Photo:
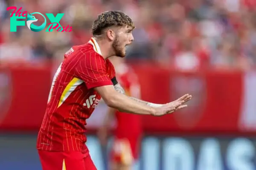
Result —
<path fill-rule="evenodd" d="M 73 31 L 11 32 L 9 6 L 64 13 L 60 24 Z M 0 170 L 41 170 L 35 142 L 53 74 L 64 52 L 89 40 L 97 14 L 110 9 L 137 27 L 127 62 L 142 99 L 193 95 L 179 113 L 143 116 L 135 170 L 256 170 L 256 0 L 0 0 Z M 95 131 L 105 107 L 87 125 L 99 170 L 106 155 Z"/>

